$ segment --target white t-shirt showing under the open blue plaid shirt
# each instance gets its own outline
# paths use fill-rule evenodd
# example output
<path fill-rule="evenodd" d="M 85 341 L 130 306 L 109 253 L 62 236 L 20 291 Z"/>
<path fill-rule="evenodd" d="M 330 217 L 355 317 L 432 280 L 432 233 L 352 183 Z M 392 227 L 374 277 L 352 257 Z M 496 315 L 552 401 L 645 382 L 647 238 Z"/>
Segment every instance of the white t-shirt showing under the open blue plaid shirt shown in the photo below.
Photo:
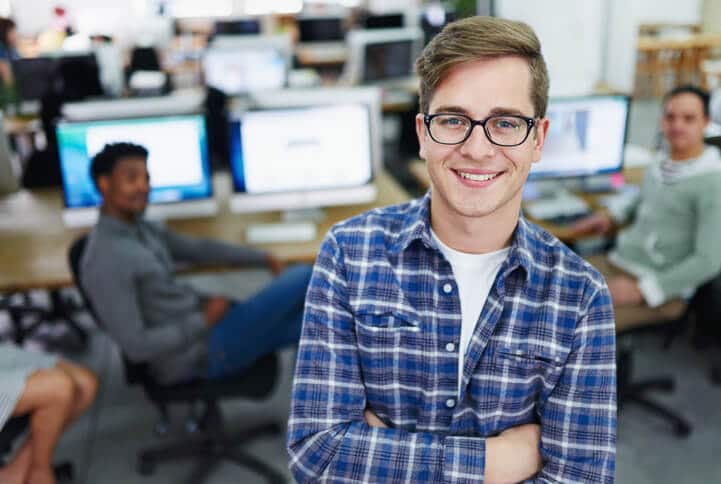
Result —
<path fill-rule="evenodd" d="M 433 230 L 431 237 L 451 264 L 461 300 L 461 341 L 458 346 L 458 393 L 460 394 L 466 349 L 471 342 L 493 281 L 496 280 L 496 274 L 506 260 L 510 247 L 487 254 L 467 254 L 448 247 Z"/>

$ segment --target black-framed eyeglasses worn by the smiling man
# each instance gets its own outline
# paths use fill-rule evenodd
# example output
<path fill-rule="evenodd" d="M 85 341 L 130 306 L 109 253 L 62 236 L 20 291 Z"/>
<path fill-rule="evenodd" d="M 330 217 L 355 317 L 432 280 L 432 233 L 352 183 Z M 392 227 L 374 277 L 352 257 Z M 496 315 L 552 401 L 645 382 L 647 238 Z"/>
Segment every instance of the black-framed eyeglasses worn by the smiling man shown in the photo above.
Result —
<path fill-rule="evenodd" d="M 424 114 L 423 122 L 433 141 L 442 145 L 463 143 L 471 136 L 473 128 L 480 125 L 488 141 L 506 147 L 523 144 L 536 125 L 535 118 L 515 114 L 497 114 L 486 119 L 473 119 L 456 113 Z"/>

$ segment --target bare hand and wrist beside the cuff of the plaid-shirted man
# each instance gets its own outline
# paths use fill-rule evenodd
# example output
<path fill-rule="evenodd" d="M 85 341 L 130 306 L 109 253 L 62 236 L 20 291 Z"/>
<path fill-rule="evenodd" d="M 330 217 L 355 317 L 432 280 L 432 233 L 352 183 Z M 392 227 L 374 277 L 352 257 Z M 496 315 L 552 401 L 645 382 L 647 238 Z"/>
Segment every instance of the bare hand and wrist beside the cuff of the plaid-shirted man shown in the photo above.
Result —
<path fill-rule="evenodd" d="M 486 471 L 489 484 L 522 482 L 538 474 L 541 461 L 541 427 L 519 425 L 486 439 Z"/>

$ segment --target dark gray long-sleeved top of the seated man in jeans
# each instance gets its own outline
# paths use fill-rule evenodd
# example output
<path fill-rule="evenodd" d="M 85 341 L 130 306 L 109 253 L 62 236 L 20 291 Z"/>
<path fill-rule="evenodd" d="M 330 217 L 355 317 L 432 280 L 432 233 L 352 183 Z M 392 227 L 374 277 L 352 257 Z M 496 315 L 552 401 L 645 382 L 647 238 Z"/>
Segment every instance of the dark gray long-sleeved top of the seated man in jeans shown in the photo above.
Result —
<path fill-rule="evenodd" d="M 261 265 L 265 257 L 102 214 L 81 260 L 81 284 L 125 355 L 149 363 L 161 383 L 174 383 L 204 376 L 208 356 L 205 298 L 176 280 L 176 263 Z"/>

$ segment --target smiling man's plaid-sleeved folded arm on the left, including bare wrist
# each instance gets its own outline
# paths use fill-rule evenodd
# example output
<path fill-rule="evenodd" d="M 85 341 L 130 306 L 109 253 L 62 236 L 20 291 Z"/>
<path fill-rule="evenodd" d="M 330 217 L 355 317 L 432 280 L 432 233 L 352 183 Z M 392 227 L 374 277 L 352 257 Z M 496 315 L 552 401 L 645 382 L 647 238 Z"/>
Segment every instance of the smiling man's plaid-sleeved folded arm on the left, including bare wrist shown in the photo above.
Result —
<path fill-rule="evenodd" d="M 505 438 L 443 436 L 373 427 L 364 419 L 366 393 L 349 310 L 343 258 L 332 237 L 321 248 L 311 279 L 293 383 L 288 429 L 290 469 L 299 482 L 477 483 L 486 473 L 487 446 L 502 456 L 537 449 L 523 433 Z M 514 437 L 525 446 L 516 448 Z M 496 442 L 500 446 L 496 449 Z M 508 445 L 508 444 L 511 445 Z M 533 453 L 533 452 L 531 452 Z M 495 469 L 500 457 L 493 457 Z M 498 459 L 498 461 L 496 461 Z M 532 476 L 506 471 L 500 482 Z"/>

